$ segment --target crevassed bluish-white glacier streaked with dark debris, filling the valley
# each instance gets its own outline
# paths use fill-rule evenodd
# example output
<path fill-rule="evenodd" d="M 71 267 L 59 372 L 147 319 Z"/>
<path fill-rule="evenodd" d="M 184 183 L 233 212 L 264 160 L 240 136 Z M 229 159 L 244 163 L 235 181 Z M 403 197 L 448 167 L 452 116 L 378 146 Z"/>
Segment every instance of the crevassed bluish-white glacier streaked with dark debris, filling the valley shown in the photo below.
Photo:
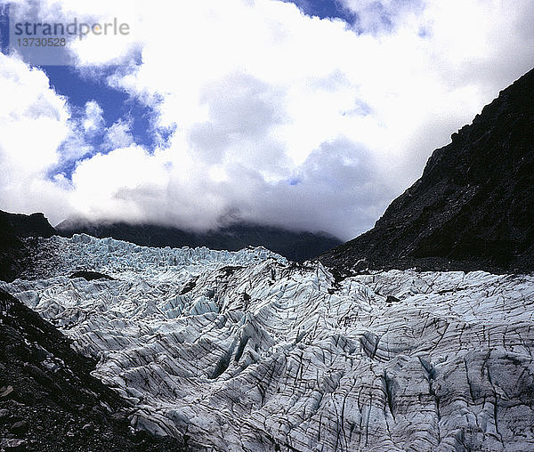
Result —
<path fill-rule="evenodd" d="M 534 449 L 531 276 L 336 284 L 264 248 L 85 235 L 41 239 L 36 259 L 2 287 L 99 359 L 136 428 L 194 450 Z"/>

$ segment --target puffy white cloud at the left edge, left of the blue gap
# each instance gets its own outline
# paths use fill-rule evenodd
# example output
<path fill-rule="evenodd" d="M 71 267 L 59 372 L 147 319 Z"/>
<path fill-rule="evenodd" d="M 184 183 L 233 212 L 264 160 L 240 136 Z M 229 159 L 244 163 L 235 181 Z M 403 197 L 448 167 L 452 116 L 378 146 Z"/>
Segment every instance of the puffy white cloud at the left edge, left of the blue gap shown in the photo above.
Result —
<path fill-rule="evenodd" d="M 0 53 L 0 205 L 11 211 L 58 212 L 64 192 L 47 180 L 69 135 L 69 109 L 48 78 Z"/>

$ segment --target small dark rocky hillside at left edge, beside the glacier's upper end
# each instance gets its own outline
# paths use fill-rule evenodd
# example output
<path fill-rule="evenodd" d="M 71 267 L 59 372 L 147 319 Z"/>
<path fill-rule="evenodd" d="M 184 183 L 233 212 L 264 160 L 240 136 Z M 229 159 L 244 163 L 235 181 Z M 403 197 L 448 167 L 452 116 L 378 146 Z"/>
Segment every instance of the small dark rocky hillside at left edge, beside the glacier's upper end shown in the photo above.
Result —
<path fill-rule="evenodd" d="M 0 279 L 11 281 L 28 264 L 30 245 L 20 238 L 48 238 L 54 234 L 44 214 L 8 214 L 0 210 Z"/>

